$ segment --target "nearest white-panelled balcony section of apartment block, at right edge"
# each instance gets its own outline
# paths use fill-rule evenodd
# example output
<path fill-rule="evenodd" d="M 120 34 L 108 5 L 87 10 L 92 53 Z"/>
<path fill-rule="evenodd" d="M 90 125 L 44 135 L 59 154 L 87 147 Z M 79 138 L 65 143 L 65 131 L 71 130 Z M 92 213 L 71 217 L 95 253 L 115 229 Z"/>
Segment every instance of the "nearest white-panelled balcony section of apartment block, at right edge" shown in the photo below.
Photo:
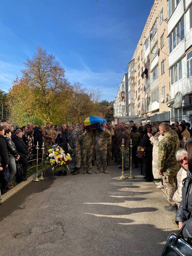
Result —
<path fill-rule="evenodd" d="M 192 1 L 168 1 L 170 101 L 172 120 L 192 117 Z M 181 102 L 174 102 L 180 92 Z"/>

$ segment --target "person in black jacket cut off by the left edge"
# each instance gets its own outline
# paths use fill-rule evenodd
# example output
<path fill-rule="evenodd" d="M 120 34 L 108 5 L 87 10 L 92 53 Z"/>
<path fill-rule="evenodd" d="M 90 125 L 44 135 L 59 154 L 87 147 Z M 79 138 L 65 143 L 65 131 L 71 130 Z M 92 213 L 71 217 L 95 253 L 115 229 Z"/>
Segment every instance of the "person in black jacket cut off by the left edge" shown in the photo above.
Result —
<path fill-rule="evenodd" d="M 7 151 L 6 141 L 4 138 L 3 126 L 0 126 L 0 157 L 1 157 L 1 167 L 3 167 L 3 170 L 0 171 L 0 184 L 1 184 L 2 193 L 4 193 L 7 186 L 7 182 L 4 177 L 4 174 L 5 174 L 5 168 L 8 167 L 8 164 L 9 164 L 9 155 Z"/>

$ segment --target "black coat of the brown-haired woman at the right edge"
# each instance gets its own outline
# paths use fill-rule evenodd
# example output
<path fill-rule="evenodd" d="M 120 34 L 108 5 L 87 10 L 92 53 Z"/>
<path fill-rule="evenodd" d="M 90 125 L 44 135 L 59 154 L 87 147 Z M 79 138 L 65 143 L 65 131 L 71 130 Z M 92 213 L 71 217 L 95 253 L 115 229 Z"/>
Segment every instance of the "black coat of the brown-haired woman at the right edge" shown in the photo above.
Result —
<path fill-rule="evenodd" d="M 187 170 L 187 178 L 183 180 L 182 201 L 175 217 L 176 223 L 185 222 L 182 234 L 185 238 L 192 238 L 192 173 Z"/>

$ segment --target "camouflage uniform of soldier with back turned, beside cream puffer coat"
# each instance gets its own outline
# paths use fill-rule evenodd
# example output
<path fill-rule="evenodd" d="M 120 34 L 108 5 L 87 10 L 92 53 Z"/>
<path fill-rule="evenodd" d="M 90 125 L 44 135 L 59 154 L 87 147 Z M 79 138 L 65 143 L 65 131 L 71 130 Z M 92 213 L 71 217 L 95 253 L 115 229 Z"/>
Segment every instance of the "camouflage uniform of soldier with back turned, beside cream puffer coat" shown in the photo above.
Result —
<path fill-rule="evenodd" d="M 163 185 L 167 200 L 172 205 L 176 205 L 173 201 L 173 195 L 176 191 L 177 173 L 180 169 L 175 158 L 175 152 L 179 149 L 179 138 L 176 132 L 169 131 L 159 142 L 158 151 L 158 170 L 162 170 Z"/>

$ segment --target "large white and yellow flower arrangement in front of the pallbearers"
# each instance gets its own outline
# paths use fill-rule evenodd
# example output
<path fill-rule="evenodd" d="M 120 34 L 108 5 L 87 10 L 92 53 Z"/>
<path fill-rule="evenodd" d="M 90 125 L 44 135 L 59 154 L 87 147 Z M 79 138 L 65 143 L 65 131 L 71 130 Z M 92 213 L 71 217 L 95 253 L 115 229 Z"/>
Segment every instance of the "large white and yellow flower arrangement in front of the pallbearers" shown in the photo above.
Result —
<path fill-rule="evenodd" d="M 65 154 L 64 150 L 62 148 L 55 147 L 53 149 L 48 150 L 48 157 L 47 160 L 51 165 L 56 166 L 63 166 L 68 168 L 68 164 L 72 160 L 70 154 Z M 54 168 L 53 167 L 53 168 Z"/>

